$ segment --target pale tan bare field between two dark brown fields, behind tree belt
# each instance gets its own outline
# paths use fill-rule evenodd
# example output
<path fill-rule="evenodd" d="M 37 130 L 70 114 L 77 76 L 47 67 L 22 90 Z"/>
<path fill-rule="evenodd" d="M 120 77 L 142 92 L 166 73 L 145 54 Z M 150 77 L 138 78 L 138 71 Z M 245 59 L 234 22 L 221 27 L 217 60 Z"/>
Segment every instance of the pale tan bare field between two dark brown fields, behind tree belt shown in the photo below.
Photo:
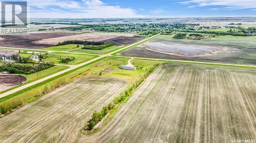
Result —
<path fill-rule="evenodd" d="M 41 39 L 38 41 L 34 41 L 34 43 L 56 45 L 58 42 L 67 41 L 67 40 L 103 41 L 103 40 L 108 40 L 108 39 L 112 39 L 120 36 L 133 37 L 132 34 L 82 33 L 77 35 Z"/>

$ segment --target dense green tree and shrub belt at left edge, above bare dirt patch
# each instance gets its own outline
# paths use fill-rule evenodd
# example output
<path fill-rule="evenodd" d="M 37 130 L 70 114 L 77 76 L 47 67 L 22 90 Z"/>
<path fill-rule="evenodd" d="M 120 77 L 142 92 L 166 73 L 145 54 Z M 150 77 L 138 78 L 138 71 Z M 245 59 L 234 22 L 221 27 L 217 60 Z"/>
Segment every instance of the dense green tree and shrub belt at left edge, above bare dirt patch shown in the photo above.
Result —
<path fill-rule="evenodd" d="M 6 63 L 0 62 L 0 71 L 8 71 L 9 73 L 31 74 L 54 66 L 53 62 L 41 63 Z"/>

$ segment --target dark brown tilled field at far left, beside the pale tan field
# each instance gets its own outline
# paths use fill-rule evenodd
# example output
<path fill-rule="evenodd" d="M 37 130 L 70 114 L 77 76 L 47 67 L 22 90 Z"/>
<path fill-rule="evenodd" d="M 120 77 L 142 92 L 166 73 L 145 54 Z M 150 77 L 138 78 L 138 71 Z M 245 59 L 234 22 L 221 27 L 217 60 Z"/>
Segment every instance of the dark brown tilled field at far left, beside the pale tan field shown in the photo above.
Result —
<path fill-rule="evenodd" d="M 75 33 L 30 33 L 20 35 L 1 35 L 0 46 L 3 47 L 15 47 L 15 48 L 29 48 L 29 49 L 41 49 L 45 47 L 53 46 L 53 44 L 40 43 L 35 44 L 33 41 L 38 41 L 46 38 L 62 37 L 76 35 Z"/>

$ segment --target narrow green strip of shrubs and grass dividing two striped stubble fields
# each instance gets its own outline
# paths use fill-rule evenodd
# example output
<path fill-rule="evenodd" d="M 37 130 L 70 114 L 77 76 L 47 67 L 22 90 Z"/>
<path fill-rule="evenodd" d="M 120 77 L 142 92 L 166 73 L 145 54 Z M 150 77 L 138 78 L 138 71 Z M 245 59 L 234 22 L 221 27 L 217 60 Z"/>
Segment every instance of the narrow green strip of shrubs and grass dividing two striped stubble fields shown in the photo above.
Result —
<path fill-rule="evenodd" d="M 142 74 L 139 79 L 137 79 L 118 96 L 116 96 L 108 105 L 103 106 L 100 111 L 94 111 L 92 119 L 90 119 L 89 124 L 83 128 L 83 131 L 86 131 L 86 133 L 93 132 L 92 129 L 94 128 L 94 126 L 99 123 L 106 115 L 108 115 L 109 112 L 111 114 L 114 113 L 113 111 L 116 111 L 117 108 L 119 108 L 120 105 L 133 94 L 133 92 L 139 87 L 139 85 L 145 80 L 145 78 L 150 75 L 158 67 L 158 65 L 159 64 L 156 64 L 150 68 L 147 68 L 144 74 Z"/>

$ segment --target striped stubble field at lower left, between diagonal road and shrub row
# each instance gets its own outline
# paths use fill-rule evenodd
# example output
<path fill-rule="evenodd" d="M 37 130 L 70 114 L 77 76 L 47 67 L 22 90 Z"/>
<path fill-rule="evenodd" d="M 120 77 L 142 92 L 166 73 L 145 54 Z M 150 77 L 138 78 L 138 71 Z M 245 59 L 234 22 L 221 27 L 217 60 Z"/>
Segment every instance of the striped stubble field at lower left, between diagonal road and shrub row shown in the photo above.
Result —
<path fill-rule="evenodd" d="M 126 84 L 118 78 L 81 78 L 0 118 L 0 142 L 74 142 L 91 113 Z"/>

